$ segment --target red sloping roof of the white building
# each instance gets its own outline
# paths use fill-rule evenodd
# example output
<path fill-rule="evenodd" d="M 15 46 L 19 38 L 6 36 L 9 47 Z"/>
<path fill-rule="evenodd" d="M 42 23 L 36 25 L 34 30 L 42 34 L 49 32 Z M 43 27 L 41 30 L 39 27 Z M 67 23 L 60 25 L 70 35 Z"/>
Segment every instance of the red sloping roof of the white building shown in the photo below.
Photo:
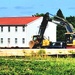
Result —
<path fill-rule="evenodd" d="M 27 25 L 39 17 L 2 17 L 0 18 L 1 26 Z"/>

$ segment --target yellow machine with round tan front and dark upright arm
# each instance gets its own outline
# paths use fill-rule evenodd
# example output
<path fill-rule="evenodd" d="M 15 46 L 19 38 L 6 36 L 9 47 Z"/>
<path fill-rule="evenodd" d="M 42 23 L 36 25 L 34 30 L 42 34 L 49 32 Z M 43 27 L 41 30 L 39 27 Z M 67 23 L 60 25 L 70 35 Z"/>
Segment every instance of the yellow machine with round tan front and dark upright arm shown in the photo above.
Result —
<path fill-rule="evenodd" d="M 48 46 L 50 46 L 50 40 L 44 38 L 44 32 L 47 27 L 48 21 L 52 21 L 52 19 L 49 17 L 49 13 L 47 12 L 43 16 L 38 35 L 33 35 L 33 39 L 29 42 L 30 48 L 47 48 Z"/>

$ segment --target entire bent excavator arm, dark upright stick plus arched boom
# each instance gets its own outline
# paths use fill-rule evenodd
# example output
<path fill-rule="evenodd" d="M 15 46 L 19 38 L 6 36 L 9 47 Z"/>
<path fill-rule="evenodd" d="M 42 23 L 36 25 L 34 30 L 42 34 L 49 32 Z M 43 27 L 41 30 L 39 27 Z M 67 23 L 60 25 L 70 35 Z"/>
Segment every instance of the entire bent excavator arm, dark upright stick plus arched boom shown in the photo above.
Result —
<path fill-rule="evenodd" d="M 58 18 L 58 20 L 57 19 L 51 19 L 49 15 Z M 69 32 L 69 33 L 75 32 L 73 25 L 71 23 L 69 23 L 66 19 L 63 19 L 61 17 L 52 15 L 52 14 L 50 14 L 50 13 L 47 12 L 43 16 L 43 20 L 41 22 L 41 25 L 40 25 L 40 28 L 39 28 L 39 32 L 38 32 L 38 34 L 42 38 L 43 38 L 44 32 L 46 30 L 46 27 L 47 27 L 47 24 L 48 24 L 49 21 L 51 21 L 51 22 L 53 22 L 53 23 L 55 23 L 57 25 L 61 25 L 61 26 L 65 27 L 66 31 Z"/>

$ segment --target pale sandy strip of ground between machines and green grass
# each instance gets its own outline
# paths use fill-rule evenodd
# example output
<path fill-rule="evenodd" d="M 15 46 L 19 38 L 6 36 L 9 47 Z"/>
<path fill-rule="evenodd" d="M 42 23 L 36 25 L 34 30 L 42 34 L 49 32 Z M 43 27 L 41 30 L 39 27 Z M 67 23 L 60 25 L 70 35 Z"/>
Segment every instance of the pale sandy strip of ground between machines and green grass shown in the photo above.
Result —
<path fill-rule="evenodd" d="M 31 56 L 39 50 L 45 50 L 45 55 L 75 54 L 75 49 L 0 49 L 0 56 Z"/>

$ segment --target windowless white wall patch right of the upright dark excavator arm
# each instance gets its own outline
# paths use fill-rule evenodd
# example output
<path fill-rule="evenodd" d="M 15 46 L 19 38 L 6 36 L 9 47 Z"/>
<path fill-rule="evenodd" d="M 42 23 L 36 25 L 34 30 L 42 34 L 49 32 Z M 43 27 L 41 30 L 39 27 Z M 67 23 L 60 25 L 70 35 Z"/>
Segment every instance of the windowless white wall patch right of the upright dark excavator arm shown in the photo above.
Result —
<path fill-rule="evenodd" d="M 50 41 L 56 42 L 56 24 L 54 24 L 52 22 L 48 22 L 44 36 L 46 38 L 49 37 Z"/>

